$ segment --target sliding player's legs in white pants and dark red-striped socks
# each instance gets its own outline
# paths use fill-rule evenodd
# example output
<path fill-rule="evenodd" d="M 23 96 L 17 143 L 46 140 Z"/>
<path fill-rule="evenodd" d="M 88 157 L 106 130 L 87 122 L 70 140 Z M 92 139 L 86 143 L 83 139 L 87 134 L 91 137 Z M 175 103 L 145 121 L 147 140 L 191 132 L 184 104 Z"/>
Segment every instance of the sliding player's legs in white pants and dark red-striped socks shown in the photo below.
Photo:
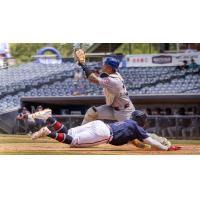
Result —
<path fill-rule="evenodd" d="M 71 147 L 90 147 L 107 143 L 111 139 L 110 129 L 100 121 L 93 121 L 82 126 L 66 127 L 52 117 L 47 119 L 50 127 L 44 127 L 32 135 L 32 139 L 48 136 Z M 53 131 L 51 131 L 51 129 Z"/>

